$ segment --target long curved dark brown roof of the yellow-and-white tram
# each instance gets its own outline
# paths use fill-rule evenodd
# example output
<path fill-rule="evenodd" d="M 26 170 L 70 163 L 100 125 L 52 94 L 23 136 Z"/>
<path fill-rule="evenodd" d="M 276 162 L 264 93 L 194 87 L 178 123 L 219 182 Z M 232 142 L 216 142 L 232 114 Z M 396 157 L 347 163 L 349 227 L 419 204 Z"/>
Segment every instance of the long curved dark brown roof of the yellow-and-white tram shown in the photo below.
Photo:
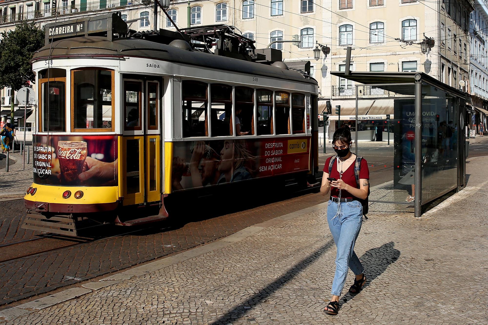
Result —
<path fill-rule="evenodd" d="M 116 38 L 112 41 L 106 37 L 99 36 L 61 39 L 42 47 L 34 54 L 32 61 L 47 57 L 144 57 L 240 72 L 248 75 L 270 76 L 317 84 L 315 79 L 307 78 L 295 70 L 285 70 L 263 63 L 222 57 L 199 51 L 187 51 L 172 45 L 139 38 Z"/>

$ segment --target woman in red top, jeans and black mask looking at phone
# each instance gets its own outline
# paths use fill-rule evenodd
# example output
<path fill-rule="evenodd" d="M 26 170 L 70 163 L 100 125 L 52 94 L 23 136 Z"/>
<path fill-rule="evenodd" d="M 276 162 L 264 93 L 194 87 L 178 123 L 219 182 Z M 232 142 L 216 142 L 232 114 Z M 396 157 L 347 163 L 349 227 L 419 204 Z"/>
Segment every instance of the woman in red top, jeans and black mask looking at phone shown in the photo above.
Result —
<path fill-rule="evenodd" d="M 356 276 L 350 292 L 359 292 L 367 280 L 363 265 L 354 252 L 354 244 L 363 221 L 361 200 L 365 200 L 369 193 L 369 170 L 366 159 L 351 153 L 351 144 L 349 128 L 335 131 L 332 148 L 337 154 L 325 161 L 320 188 L 322 195 L 330 191 L 327 223 L 337 247 L 332 298 L 324 309 L 329 315 L 337 315 L 339 311 L 339 297 L 346 282 L 348 267 Z"/>

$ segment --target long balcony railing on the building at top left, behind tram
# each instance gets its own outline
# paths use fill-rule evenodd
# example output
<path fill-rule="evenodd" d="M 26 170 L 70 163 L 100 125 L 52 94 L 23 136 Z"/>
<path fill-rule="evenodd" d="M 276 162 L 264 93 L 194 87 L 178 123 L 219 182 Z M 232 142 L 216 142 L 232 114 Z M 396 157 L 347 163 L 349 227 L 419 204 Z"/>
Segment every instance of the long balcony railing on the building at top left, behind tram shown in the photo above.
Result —
<path fill-rule="evenodd" d="M 136 4 L 132 0 L 99 0 L 99 1 L 90 1 L 86 3 L 80 3 L 79 5 L 72 7 L 63 6 L 60 4 L 58 8 L 54 9 L 41 9 L 36 11 L 28 11 L 23 13 L 16 13 L 11 15 L 3 15 L 0 17 L 0 23 L 8 23 L 8 22 L 16 22 L 22 20 L 33 20 L 43 17 L 52 17 L 61 15 L 68 15 L 76 12 L 84 12 L 84 11 L 95 11 L 107 8 L 117 8 L 117 7 L 125 7 L 127 5 Z"/>

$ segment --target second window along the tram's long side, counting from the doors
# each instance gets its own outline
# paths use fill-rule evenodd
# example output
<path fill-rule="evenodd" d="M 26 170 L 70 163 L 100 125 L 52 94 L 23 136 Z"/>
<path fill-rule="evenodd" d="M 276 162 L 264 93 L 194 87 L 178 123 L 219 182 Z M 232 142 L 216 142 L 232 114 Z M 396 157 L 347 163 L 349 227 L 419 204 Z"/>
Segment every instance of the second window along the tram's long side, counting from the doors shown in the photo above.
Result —
<path fill-rule="evenodd" d="M 220 84 L 210 86 L 210 117 L 212 136 L 229 136 L 232 131 L 232 87 Z"/>

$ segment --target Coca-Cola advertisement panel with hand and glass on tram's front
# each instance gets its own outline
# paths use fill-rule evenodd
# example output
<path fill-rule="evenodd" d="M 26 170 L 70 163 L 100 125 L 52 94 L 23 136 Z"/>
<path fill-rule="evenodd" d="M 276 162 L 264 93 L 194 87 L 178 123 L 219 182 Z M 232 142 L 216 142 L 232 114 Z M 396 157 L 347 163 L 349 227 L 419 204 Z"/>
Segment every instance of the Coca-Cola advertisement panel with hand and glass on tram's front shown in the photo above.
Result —
<path fill-rule="evenodd" d="M 35 135 L 33 154 L 36 184 L 117 185 L 117 136 Z"/>

